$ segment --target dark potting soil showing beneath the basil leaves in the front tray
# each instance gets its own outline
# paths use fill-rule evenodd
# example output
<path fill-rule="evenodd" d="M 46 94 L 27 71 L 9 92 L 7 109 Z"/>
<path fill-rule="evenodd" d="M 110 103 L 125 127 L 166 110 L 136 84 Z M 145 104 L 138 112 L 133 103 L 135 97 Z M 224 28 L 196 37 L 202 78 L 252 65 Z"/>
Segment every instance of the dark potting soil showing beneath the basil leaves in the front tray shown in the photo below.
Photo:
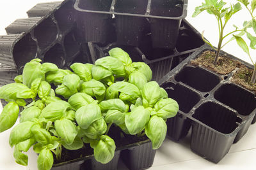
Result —
<path fill-rule="evenodd" d="M 143 135 L 141 137 L 125 134 L 119 127 L 112 125 L 109 129 L 108 136 L 110 136 L 115 141 L 116 149 L 123 148 L 126 145 L 131 145 L 133 143 L 138 143 L 140 141 L 147 140 L 147 136 Z M 127 146 L 129 147 L 129 146 Z M 60 162 L 66 162 L 68 160 L 79 159 L 93 154 L 93 149 L 90 147 L 90 144 L 84 143 L 83 148 L 79 150 L 67 150 L 62 147 L 61 160 L 56 160 L 54 155 L 54 164 Z"/>

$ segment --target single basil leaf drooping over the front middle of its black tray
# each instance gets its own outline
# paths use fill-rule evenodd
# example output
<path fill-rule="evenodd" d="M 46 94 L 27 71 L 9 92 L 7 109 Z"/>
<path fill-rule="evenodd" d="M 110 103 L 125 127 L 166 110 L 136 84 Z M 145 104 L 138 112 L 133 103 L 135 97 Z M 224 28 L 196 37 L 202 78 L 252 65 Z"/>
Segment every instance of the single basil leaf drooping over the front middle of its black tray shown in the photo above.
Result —
<path fill-rule="evenodd" d="M 93 146 L 95 160 L 102 164 L 107 164 L 115 155 L 115 141 L 109 136 L 102 135 L 100 140 Z"/>

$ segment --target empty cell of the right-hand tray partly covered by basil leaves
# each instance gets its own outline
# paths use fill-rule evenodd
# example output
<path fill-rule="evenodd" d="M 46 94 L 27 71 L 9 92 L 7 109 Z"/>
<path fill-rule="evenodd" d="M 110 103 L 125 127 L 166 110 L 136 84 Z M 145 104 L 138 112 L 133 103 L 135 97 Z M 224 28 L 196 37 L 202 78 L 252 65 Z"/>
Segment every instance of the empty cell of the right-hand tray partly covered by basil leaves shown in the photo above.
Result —
<path fill-rule="evenodd" d="M 201 97 L 193 89 L 177 83 L 167 82 L 162 85 L 168 97 L 179 104 L 179 111 L 176 117 L 167 120 L 167 136 L 173 141 L 180 141 L 188 134 L 191 127 L 191 120 L 186 116 L 189 111 L 200 101 Z"/>

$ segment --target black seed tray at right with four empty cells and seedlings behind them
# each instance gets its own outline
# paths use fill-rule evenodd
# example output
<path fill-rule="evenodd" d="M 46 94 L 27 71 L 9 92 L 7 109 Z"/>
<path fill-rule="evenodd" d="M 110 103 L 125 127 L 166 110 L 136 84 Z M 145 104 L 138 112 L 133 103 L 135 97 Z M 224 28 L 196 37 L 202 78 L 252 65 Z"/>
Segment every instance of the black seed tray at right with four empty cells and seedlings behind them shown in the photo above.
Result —
<path fill-rule="evenodd" d="M 168 119 L 168 138 L 180 141 L 192 127 L 191 150 L 217 163 L 232 143 L 248 131 L 255 117 L 256 99 L 253 92 L 230 82 L 233 73 L 220 75 L 189 64 L 210 49 L 207 45 L 200 47 L 159 80 L 159 84 L 179 103 L 177 117 Z"/>

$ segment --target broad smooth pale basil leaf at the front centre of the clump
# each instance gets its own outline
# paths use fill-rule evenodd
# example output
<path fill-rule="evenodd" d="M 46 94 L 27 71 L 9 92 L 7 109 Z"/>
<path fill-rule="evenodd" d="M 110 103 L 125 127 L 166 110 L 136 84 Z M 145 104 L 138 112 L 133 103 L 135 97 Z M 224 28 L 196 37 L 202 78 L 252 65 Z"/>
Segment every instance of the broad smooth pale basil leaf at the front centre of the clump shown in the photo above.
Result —
<path fill-rule="evenodd" d="M 76 111 L 77 124 L 87 129 L 95 120 L 101 118 L 100 107 L 97 104 L 82 106 Z"/>

